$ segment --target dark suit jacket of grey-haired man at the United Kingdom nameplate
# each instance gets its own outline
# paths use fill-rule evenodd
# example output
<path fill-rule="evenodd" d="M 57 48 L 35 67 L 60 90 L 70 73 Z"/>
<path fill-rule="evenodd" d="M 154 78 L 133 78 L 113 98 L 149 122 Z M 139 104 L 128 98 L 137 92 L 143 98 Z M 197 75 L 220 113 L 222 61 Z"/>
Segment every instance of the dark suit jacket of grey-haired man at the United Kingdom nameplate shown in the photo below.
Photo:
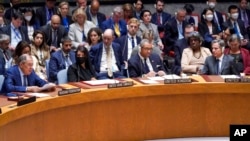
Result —
<path fill-rule="evenodd" d="M 158 72 L 160 70 L 165 71 L 163 62 L 161 61 L 161 58 L 159 55 L 152 53 L 149 56 L 149 60 L 151 62 L 151 65 L 153 67 L 154 72 Z M 141 60 L 139 54 L 134 54 L 130 57 L 128 60 L 128 71 L 130 77 L 141 77 L 143 74 L 146 74 L 143 69 L 143 61 Z"/>

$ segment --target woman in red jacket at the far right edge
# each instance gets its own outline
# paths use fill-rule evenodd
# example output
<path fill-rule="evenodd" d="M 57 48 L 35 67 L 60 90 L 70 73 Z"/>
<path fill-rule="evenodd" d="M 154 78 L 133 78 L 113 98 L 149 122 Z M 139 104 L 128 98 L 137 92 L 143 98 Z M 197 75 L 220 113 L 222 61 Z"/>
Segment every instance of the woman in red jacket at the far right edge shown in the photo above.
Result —
<path fill-rule="evenodd" d="M 224 53 L 229 54 L 234 58 L 234 62 L 239 72 L 250 74 L 250 55 L 247 49 L 240 46 L 240 38 L 233 34 L 228 39 L 228 46 Z"/>

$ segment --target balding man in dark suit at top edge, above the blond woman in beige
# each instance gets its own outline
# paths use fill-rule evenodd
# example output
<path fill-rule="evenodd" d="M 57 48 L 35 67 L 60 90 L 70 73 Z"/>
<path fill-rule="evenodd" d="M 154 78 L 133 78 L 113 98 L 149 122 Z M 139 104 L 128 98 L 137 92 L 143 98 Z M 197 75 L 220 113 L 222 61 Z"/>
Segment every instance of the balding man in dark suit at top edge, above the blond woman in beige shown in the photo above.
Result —
<path fill-rule="evenodd" d="M 106 16 L 99 12 L 100 3 L 98 0 L 92 0 L 90 6 L 86 10 L 87 20 L 92 21 L 97 27 L 106 20 Z"/>

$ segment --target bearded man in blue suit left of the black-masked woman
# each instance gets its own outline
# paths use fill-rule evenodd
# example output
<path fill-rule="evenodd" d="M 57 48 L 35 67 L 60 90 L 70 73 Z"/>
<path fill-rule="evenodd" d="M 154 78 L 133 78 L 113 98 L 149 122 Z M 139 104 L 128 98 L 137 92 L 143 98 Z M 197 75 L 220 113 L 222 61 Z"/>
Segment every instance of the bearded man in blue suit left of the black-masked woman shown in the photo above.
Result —
<path fill-rule="evenodd" d="M 72 41 L 69 37 L 61 40 L 62 49 L 52 53 L 49 60 L 49 81 L 57 81 L 57 73 L 60 70 L 67 69 L 71 64 L 76 62 L 75 52 L 71 50 Z"/>

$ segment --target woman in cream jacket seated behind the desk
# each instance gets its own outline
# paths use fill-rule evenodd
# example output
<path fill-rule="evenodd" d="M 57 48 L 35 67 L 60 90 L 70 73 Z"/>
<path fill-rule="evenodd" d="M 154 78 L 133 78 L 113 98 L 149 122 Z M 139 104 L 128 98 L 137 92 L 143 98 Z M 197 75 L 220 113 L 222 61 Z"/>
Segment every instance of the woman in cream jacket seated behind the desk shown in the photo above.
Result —
<path fill-rule="evenodd" d="M 185 48 L 181 57 L 181 69 L 183 73 L 196 74 L 203 67 L 207 56 L 211 55 L 208 48 L 202 47 L 202 37 L 198 32 L 192 32 L 187 38 L 188 48 Z"/>

